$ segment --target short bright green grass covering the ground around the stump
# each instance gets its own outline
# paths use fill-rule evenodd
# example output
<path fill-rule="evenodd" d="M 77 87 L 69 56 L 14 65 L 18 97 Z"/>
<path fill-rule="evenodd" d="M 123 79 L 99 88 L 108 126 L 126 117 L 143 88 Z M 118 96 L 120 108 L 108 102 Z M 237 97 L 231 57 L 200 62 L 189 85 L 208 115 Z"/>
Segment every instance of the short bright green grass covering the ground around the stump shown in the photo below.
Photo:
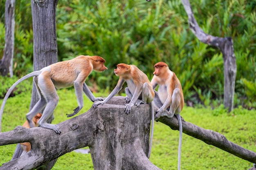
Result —
<path fill-rule="evenodd" d="M 74 90 L 61 89 L 57 93 L 60 100 L 54 111 L 55 119 L 52 122 L 54 124 L 70 119 L 66 117 L 66 113 L 71 113 L 77 106 Z M 96 97 L 107 96 L 107 94 L 94 95 Z M 7 100 L 2 119 L 2 131 L 11 131 L 25 122 L 25 113 L 29 109 L 30 98 L 31 92 L 23 92 Z M 92 102 L 85 96 L 84 103 L 85 106 L 78 114 L 84 113 L 92 106 Z M 200 106 L 184 107 L 181 115 L 188 122 L 222 133 L 231 142 L 256 151 L 255 110 L 248 111 L 239 108 L 227 114 L 222 106 L 215 110 Z M 178 137 L 179 131 L 173 131 L 168 126 L 155 122 L 150 161 L 163 170 L 177 169 Z M 0 165 L 11 159 L 15 147 L 16 144 L 0 146 Z M 181 163 L 182 170 L 247 170 L 252 167 L 252 163 L 186 134 L 183 134 Z M 53 170 L 70 169 L 92 170 L 90 154 L 67 153 L 59 157 L 53 167 Z"/>

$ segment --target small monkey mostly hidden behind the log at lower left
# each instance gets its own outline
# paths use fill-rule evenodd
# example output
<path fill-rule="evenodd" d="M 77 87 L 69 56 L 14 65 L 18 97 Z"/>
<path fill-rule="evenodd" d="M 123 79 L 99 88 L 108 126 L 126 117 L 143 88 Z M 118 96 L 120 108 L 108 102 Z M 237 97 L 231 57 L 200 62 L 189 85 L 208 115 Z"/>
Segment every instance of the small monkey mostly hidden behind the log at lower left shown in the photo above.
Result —
<path fill-rule="evenodd" d="M 38 120 L 41 118 L 41 116 L 42 116 L 42 113 L 37 113 L 36 116 L 32 119 L 32 123 L 33 123 L 34 127 L 38 127 Z M 31 128 L 29 126 L 29 122 L 27 120 L 26 120 L 26 122 L 24 122 L 24 124 L 22 126 L 25 128 Z M 29 142 L 20 143 L 20 146 L 23 150 L 23 152 L 20 156 L 25 155 L 31 149 L 31 144 Z"/>

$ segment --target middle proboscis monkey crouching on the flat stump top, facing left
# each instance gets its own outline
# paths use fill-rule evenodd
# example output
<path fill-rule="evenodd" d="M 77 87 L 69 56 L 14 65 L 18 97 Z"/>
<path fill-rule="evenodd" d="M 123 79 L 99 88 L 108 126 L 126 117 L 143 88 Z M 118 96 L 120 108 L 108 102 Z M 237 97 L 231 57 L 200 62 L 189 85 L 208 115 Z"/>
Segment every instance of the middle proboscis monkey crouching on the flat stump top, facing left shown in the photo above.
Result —
<path fill-rule="evenodd" d="M 124 85 L 126 81 L 127 86 L 125 89 L 126 92 L 126 104 L 125 113 L 130 113 L 132 106 L 139 106 L 141 103 L 150 103 L 151 114 L 152 114 L 152 122 L 151 122 L 151 134 L 150 134 L 150 144 L 148 151 L 148 158 L 150 157 L 151 147 L 152 147 L 152 139 L 153 139 L 153 129 L 154 129 L 154 108 L 152 101 L 154 99 L 154 90 L 148 80 L 148 76 L 135 65 L 127 65 L 124 63 L 120 63 L 117 65 L 117 69 L 114 69 L 114 73 L 119 76 L 119 80 L 117 82 L 116 87 L 110 93 L 110 95 L 103 101 L 94 102 L 92 107 L 97 108 L 100 104 L 105 104 L 114 97 Z"/>

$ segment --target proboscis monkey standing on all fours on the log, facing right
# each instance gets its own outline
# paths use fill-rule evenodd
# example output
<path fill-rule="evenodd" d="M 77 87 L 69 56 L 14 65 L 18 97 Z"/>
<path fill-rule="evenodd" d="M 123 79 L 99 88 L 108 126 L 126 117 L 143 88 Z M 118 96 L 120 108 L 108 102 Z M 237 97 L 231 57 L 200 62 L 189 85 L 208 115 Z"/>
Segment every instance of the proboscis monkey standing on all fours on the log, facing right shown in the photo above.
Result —
<path fill-rule="evenodd" d="M 0 109 L 0 123 L 2 119 L 2 113 L 4 111 L 4 106 L 6 101 L 11 94 L 11 91 L 25 79 L 34 76 L 34 83 L 38 95 L 40 97 L 36 105 L 27 113 L 26 117 L 29 122 L 30 127 L 33 127 L 32 118 L 40 112 L 43 107 L 45 110 L 43 116 L 38 121 L 40 127 L 54 130 L 57 134 L 61 133 L 61 129 L 56 124 L 46 123 L 48 118 L 53 115 L 53 111 L 58 104 L 58 94 L 56 89 L 70 87 L 74 85 L 76 98 L 78 102 L 78 107 L 74 109 L 74 113 L 67 114 L 67 117 L 74 116 L 83 107 L 83 92 L 92 101 L 103 100 L 103 98 L 95 98 L 85 84 L 85 79 L 89 76 L 92 70 L 102 72 L 105 71 L 106 66 L 104 65 L 105 60 L 99 56 L 84 56 L 80 55 L 74 59 L 61 61 L 54 63 L 39 71 L 31 72 L 26 76 L 20 78 L 16 83 L 14 83 L 7 94 L 4 97 L 2 106 Z M 56 89 L 55 89 L 56 88 Z M 1 124 L 0 124 L 1 125 Z M 0 126 L 1 127 L 1 126 Z"/>

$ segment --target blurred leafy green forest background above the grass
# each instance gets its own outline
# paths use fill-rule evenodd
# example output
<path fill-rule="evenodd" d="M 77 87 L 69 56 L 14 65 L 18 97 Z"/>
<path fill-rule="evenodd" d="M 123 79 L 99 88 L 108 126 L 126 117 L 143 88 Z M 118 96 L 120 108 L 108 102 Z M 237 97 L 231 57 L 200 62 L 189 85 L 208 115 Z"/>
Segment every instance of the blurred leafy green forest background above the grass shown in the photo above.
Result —
<path fill-rule="evenodd" d="M 235 107 L 256 108 L 256 0 L 190 0 L 199 26 L 217 37 L 232 37 L 237 62 Z M 0 57 L 4 50 L 4 6 L 0 1 Z M 182 83 L 187 105 L 217 107 L 223 103 L 222 53 L 200 42 L 190 31 L 181 0 L 59 0 L 56 11 L 58 60 L 99 55 L 109 70 L 92 72 L 94 92 L 112 90 L 118 63 L 135 64 L 153 77 L 153 65 L 164 61 Z M 31 4 L 16 0 L 13 81 L 33 71 Z M 8 81 L 7 81 L 8 80 Z M 6 82 L 11 82 L 7 85 Z M 7 87 L 7 88 L 8 88 Z"/>

